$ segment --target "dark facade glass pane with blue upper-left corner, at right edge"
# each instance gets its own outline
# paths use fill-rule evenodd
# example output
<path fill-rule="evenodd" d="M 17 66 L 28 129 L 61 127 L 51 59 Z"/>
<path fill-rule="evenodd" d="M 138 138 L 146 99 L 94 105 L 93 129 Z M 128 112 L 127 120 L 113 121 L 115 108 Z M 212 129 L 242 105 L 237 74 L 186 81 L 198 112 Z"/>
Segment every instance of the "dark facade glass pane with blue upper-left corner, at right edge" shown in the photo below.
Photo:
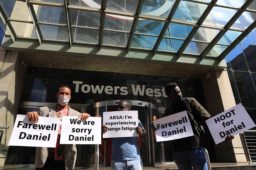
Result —
<path fill-rule="evenodd" d="M 256 46 L 242 44 L 249 70 L 256 72 Z"/>

